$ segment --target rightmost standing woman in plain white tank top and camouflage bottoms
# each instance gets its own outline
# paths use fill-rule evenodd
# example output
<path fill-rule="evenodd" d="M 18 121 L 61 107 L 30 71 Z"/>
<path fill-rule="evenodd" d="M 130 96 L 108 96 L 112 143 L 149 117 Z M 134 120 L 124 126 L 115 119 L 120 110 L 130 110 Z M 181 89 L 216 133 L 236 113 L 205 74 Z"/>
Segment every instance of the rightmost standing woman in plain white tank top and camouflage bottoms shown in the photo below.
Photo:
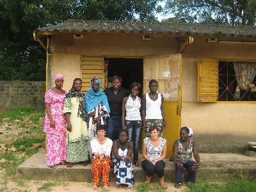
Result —
<path fill-rule="evenodd" d="M 156 125 L 159 136 L 163 136 L 166 127 L 163 108 L 164 97 L 163 94 L 157 93 L 158 83 L 155 79 L 149 81 L 148 87 L 150 92 L 143 95 L 142 99 L 143 129 L 146 131 L 146 136 L 150 137 L 149 127 Z"/>

